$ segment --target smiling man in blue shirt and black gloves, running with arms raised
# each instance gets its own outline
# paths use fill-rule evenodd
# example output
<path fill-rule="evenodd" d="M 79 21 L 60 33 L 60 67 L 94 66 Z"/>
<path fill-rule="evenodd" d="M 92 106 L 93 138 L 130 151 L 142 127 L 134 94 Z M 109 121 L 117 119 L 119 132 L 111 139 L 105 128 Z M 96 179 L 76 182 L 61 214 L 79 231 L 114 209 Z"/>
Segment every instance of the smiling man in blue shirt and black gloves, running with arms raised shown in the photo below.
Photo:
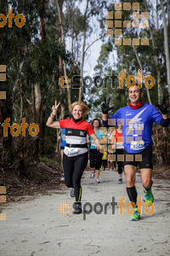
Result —
<path fill-rule="evenodd" d="M 122 125 L 122 137 L 124 139 L 124 169 L 127 179 L 127 195 L 130 201 L 135 205 L 135 212 L 130 217 L 131 220 L 139 220 L 140 212 L 136 205 L 137 191 L 135 188 L 136 166 L 139 163 L 141 179 L 144 186 L 145 202 L 151 205 L 154 197 L 151 192 L 153 153 L 151 144 L 151 130 L 153 123 L 163 127 L 169 125 L 167 115 L 167 105 L 162 103 L 158 108 L 161 113 L 152 105 L 144 103 L 141 98 L 143 91 L 138 85 L 131 86 L 128 89 L 129 106 L 120 108 L 114 115 L 109 117 L 108 112 L 110 100 L 102 103 L 102 120 L 105 127 L 111 125 Z"/>

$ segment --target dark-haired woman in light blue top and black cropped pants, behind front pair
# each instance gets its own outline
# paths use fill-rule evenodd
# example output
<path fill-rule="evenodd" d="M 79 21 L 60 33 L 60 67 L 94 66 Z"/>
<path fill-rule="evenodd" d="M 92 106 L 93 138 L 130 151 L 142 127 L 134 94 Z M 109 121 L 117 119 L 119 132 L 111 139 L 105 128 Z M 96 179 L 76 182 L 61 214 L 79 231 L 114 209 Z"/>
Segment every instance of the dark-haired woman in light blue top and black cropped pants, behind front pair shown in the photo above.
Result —
<path fill-rule="evenodd" d="M 101 127 L 101 122 L 99 119 L 93 119 L 92 127 L 94 128 L 95 135 L 100 139 L 100 132 L 99 127 Z M 103 153 L 100 153 L 99 150 L 96 148 L 94 140 L 90 138 L 90 151 L 89 151 L 89 159 L 90 159 L 90 168 L 91 168 L 91 177 L 93 178 L 94 175 L 96 177 L 96 183 L 100 183 L 99 181 L 99 172 L 100 167 L 102 165 L 102 156 Z"/>

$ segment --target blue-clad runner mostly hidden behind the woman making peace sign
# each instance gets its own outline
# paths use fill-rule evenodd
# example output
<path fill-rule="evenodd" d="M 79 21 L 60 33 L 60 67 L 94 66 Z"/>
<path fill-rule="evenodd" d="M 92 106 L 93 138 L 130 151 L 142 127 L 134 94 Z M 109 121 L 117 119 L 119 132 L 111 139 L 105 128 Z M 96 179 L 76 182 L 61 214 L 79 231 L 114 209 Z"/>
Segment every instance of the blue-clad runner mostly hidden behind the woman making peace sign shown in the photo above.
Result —
<path fill-rule="evenodd" d="M 71 119 L 71 114 L 70 113 L 65 113 L 64 118 L 63 119 Z M 64 149 L 65 149 L 65 128 L 62 128 L 61 130 L 59 130 L 58 133 L 58 138 L 57 138 L 58 143 L 60 142 L 60 154 L 61 154 L 61 169 L 62 169 L 62 177 L 61 177 L 61 181 L 65 181 L 65 173 L 64 173 L 64 168 L 63 168 L 63 153 L 64 153 Z"/>

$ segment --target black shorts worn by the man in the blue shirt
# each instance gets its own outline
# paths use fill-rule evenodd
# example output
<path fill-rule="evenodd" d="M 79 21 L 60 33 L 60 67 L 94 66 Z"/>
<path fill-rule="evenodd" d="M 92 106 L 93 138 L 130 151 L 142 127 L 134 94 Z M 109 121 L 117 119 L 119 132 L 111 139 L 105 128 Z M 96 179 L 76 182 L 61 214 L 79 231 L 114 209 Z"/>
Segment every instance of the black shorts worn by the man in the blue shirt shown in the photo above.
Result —
<path fill-rule="evenodd" d="M 136 154 L 129 154 L 124 149 L 124 166 L 138 166 L 140 169 L 153 168 L 153 148 L 152 144 L 144 149 L 144 151 Z"/>

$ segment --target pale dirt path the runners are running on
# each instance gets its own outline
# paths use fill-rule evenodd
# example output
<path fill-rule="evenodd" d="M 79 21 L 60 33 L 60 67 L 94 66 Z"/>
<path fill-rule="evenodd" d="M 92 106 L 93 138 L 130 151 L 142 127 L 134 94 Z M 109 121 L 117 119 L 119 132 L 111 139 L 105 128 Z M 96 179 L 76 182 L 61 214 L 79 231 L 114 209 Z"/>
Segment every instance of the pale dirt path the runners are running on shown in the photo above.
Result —
<path fill-rule="evenodd" d="M 113 214 L 111 206 L 112 197 L 116 202 L 122 196 L 127 197 L 124 174 L 123 183 L 117 184 L 117 172 L 101 172 L 102 183 L 96 184 L 89 173 L 85 172 L 82 179 L 82 204 L 85 209 L 86 203 L 91 203 L 90 214 L 87 214 L 89 207 L 80 215 L 59 212 L 61 202 L 68 202 L 73 210 L 70 189 L 65 186 L 49 195 L 38 195 L 34 200 L 27 197 L 26 201 L 4 205 L 7 220 L 0 221 L 0 255 L 169 255 L 170 182 L 155 179 L 155 212 L 148 216 L 143 207 L 140 221 L 130 222 L 126 207 L 121 216 L 119 207 L 116 205 Z M 144 200 L 139 173 L 136 187 Z M 103 206 L 100 214 L 94 212 L 96 202 Z M 107 214 L 104 214 L 107 202 Z M 96 211 L 102 210 L 102 206 Z"/>

